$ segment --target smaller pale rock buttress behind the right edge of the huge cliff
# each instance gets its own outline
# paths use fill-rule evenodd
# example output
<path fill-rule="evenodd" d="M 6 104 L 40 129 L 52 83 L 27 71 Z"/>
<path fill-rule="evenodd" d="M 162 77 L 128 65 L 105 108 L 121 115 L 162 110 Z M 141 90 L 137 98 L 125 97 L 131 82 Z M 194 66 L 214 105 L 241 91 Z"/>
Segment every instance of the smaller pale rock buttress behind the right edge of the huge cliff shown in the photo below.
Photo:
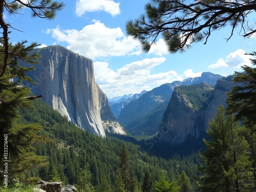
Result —
<path fill-rule="evenodd" d="M 117 122 L 111 111 L 108 98 L 97 84 L 96 86 L 98 88 L 99 95 L 100 118 L 102 120 L 104 130 L 108 131 L 109 133 L 126 135 L 123 127 Z"/>

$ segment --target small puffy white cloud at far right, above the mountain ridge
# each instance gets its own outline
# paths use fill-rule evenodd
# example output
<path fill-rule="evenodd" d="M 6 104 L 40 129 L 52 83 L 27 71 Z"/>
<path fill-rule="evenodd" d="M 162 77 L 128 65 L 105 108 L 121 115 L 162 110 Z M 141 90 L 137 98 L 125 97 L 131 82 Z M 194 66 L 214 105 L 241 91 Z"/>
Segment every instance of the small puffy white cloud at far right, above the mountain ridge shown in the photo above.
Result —
<path fill-rule="evenodd" d="M 211 64 L 208 68 L 215 69 L 221 67 L 231 67 L 231 68 L 240 68 L 244 65 L 251 65 L 250 58 L 252 56 L 245 55 L 245 51 L 242 49 L 238 49 L 230 54 L 228 54 L 225 58 L 220 58 L 216 63 Z"/>

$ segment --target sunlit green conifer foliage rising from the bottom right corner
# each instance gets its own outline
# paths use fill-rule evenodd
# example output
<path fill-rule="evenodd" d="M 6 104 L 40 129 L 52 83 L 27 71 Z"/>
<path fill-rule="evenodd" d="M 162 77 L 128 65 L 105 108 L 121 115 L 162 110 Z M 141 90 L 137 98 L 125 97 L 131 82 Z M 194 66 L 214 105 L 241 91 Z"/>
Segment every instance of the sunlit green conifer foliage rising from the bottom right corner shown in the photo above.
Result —
<path fill-rule="evenodd" d="M 232 116 L 225 116 L 221 105 L 209 122 L 210 140 L 204 140 L 206 151 L 200 154 L 202 191 L 249 191 L 252 170 L 244 130 Z"/>

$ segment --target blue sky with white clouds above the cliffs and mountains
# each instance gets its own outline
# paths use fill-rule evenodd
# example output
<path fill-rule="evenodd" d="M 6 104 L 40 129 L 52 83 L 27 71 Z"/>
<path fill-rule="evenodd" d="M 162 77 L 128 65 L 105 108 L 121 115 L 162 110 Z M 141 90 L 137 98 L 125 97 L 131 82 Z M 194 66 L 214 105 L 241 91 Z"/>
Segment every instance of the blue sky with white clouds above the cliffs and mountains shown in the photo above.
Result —
<path fill-rule="evenodd" d="M 27 0 L 23 0 L 26 2 Z M 53 20 L 31 18 L 28 8 L 4 14 L 10 42 L 27 40 L 40 47 L 60 45 L 93 60 L 95 81 L 108 98 L 150 91 L 164 83 L 212 72 L 227 76 L 251 65 L 254 37 L 244 38 L 239 29 L 215 31 L 207 44 L 198 42 L 184 53 L 169 54 L 160 36 L 150 52 L 125 31 L 127 20 L 144 13 L 146 0 L 63 0 L 65 8 Z"/>

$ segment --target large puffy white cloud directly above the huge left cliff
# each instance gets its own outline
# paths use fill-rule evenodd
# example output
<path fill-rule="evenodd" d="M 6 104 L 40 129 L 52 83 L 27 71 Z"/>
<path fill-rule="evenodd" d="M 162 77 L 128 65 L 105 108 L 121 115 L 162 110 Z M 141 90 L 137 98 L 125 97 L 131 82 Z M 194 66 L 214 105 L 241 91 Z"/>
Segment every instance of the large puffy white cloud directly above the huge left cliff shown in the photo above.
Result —
<path fill-rule="evenodd" d="M 48 29 L 47 33 L 52 34 L 58 42 L 67 42 L 68 49 L 91 59 L 141 54 L 138 41 L 131 36 L 126 37 L 119 27 L 107 28 L 100 22 L 88 25 L 80 31 L 62 30 L 57 26 L 55 29 Z"/>

